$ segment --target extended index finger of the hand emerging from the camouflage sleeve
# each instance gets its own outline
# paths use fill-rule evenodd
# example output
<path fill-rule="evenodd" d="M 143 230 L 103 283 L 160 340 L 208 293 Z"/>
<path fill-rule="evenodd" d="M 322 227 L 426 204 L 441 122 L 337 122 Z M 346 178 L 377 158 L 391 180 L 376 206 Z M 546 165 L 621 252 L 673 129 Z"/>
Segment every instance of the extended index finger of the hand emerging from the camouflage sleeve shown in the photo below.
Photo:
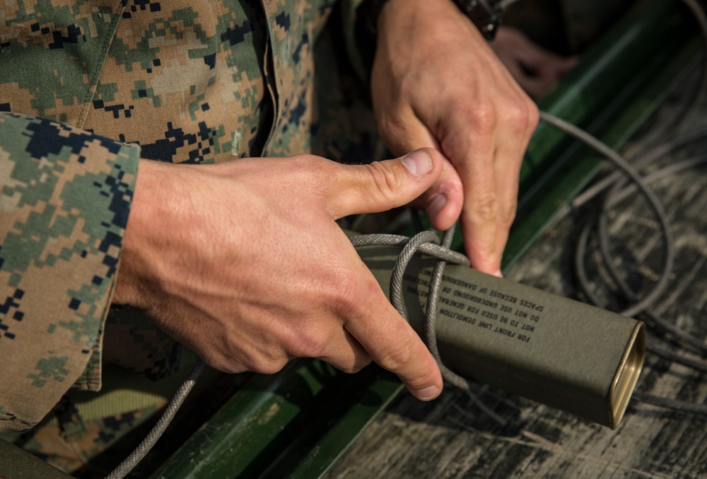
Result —
<path fill-rule="evenodd" d="M 363 263 L 361 263 L 363 266 Z M 344 323 L 351 335 L 368 351 L 373 361 L 400 378 L 419 400 L 432 400 L 442 392 L 442 374 L 419 335 L 383 294 L 368 268 L 356 311 L 349 311 Z"/>

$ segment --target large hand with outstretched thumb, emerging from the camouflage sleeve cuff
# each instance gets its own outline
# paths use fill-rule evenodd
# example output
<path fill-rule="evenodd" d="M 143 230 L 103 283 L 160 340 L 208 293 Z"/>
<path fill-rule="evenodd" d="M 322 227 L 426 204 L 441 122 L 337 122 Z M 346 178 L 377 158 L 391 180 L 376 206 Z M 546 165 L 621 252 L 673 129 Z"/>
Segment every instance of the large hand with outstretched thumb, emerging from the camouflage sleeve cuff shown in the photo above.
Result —
<path fill-rule="evenodd" d="M 407 204 L 440 175 L 437 151 L 403 158 L 141 161 L 113 301 L 221 371 L 317 357 L 355 372 L 373 359 L 433 399 L 435 360 L 335 222 Z"/>

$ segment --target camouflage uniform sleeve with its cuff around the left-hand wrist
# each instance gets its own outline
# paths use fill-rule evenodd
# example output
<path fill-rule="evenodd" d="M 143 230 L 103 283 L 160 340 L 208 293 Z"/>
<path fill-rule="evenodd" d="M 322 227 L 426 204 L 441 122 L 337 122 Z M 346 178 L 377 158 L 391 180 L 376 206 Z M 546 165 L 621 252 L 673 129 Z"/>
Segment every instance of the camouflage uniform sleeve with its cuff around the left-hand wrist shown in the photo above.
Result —
<path fill-rule="evenodd" d="M 44 417 L 71 386 L 100 388 L 139 148 L 0 114 L 0 431 Z"/>

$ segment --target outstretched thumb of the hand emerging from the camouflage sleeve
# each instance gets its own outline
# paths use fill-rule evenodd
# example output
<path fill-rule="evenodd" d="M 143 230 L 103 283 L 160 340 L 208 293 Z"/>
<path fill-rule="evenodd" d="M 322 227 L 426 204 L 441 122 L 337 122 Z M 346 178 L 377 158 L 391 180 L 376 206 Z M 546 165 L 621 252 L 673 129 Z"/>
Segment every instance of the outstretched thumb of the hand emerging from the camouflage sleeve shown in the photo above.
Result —
<path fill-rule="evenodd" d="M 423 148 L 394 160 L 340 165 L 327 183 L 329 212 L 339 219 L 408 204 L 435 182 L 442 163 L 439 151 Z"/>

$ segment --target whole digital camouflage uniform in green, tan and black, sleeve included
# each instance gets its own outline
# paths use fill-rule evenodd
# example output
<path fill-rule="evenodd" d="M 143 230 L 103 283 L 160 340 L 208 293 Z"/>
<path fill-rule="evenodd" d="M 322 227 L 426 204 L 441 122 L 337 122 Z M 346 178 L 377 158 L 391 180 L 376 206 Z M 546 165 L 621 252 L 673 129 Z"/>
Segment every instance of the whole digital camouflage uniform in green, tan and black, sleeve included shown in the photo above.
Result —
<path fill-rule="evenodd" d="M 44 418 L 16 442 L 70 471 L 156 410 L 82 420 L 71 388 L 98 391 L 109 363 L 155 381 L 191 363 L 109 314 L 140 157 L 380 159 L 360 1 L 0 4 L 0 431 Z M 50 437 L 71 450 L 42 452 Z"/>

